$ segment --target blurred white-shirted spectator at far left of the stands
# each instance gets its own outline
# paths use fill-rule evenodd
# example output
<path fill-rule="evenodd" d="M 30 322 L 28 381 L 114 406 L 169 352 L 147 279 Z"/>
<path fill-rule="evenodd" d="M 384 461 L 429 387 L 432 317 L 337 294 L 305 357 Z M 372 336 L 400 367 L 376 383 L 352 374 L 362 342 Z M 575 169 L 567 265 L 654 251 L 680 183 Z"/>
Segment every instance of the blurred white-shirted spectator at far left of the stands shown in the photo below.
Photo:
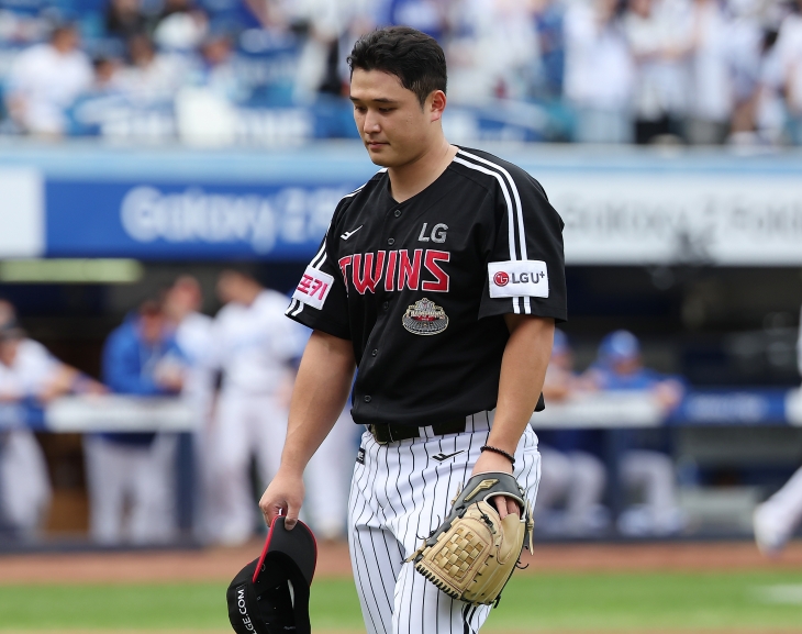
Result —
<path fill-rule="evenodd" d="M 92 84 L 89 57 L 78 46 L 78 30 L 65 24 L 54 29 L 48 43 L 27 48 L 14 60 L 5 101 L 23 132 L 65 134 L 65 111 Z"/>

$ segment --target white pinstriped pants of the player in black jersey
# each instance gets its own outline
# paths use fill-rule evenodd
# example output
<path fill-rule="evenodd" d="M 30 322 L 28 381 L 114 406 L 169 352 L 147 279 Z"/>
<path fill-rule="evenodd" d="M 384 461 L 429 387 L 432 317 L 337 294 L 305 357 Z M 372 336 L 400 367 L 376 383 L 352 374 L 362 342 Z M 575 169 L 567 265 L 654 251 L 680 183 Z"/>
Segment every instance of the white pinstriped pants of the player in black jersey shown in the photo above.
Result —
<path fill-rule="evenodd" d="M 461 434 L 379 445 L 365 432 L 348 502 L 348 546 L 368 634 L 475 634 L 490 605 L 441 592 L 404 559 L 448 514 L 487 443 L 494 412 L 467 416 Z M 361 452 L 360 452 L 361 453 Z M 445 457 L 444 457 L 445 456 Z M 515 477 L 534 505 L 541 479 L 537 436 L 527 426 L 515 451 Z"/>

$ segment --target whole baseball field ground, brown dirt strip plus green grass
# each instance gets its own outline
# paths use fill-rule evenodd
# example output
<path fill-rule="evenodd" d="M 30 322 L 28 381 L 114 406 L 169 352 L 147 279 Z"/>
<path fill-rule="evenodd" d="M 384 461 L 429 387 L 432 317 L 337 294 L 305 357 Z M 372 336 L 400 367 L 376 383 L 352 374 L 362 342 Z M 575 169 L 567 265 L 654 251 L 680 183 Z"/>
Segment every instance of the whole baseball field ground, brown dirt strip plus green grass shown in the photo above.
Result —
<path fill-rule="evenodd" d="M 0 634 L 229 634 L 240 549 L 0 556 Z M 482 632 L 802 634 L 802 542 L 541 545 Z M 319 552 L 314 634 L 364 632 L 347 548 Z"/>

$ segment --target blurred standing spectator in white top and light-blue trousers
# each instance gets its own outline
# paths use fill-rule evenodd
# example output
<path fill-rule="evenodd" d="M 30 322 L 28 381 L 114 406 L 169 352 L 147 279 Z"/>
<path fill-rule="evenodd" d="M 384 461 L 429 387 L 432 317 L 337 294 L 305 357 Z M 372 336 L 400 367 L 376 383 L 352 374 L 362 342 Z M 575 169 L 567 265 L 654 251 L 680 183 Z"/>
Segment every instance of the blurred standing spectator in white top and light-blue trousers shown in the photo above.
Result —
<path fill-rule="evenodd" d="M 565 94 L 577 113 L 576 141 L 632 141 L 633 64 L 617 0 L 573 2 L 565 19 Z"/>

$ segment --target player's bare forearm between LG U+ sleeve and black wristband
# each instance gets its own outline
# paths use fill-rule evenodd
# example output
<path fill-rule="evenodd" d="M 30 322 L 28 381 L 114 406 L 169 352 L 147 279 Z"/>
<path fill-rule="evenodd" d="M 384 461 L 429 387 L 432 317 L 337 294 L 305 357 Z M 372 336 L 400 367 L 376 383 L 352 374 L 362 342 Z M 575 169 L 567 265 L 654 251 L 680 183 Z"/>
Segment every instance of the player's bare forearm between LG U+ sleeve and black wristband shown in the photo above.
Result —
<path fill-rule="evenodd" d="M 554 342 L 554 320 L 506 316 L 510 340 L 501 362 L 499 399 L 488 445 L 514 454 L 543 389 Z"/>

